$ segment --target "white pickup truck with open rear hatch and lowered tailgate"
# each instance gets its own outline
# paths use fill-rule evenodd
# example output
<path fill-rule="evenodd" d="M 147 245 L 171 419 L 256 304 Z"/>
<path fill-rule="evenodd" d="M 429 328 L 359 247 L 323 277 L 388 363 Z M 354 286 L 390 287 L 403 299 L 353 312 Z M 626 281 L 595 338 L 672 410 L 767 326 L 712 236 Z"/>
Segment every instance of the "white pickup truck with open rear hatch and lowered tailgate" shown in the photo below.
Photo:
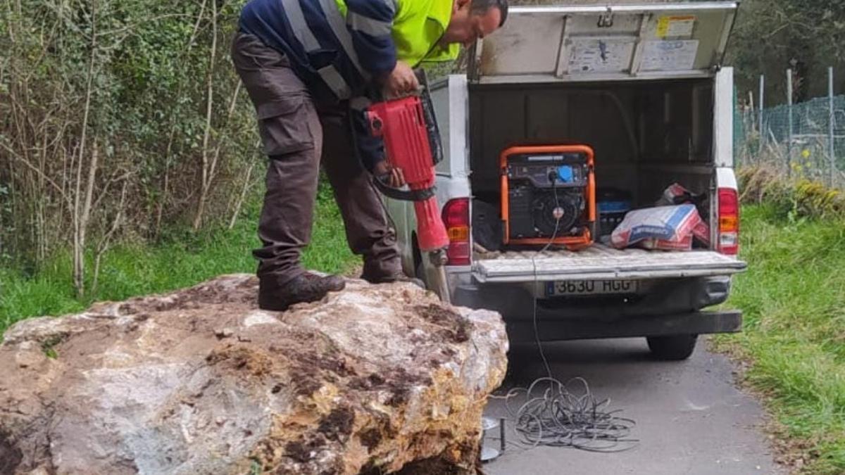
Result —
<path fill-rule="evenodd" d="M 737 259 L 733 69 L 722 68 L 738 3 L 619 3 L 510 9 L 472 48 L 466 74 L 432 85 L 444 145 L 437 197 L 453 238 L 452 303 L 504 316 L 510 338 L 638 337 L 657 358 L 689 358 L 701 334 L 739 331 L 742 315 L 704 311 L 728 298 Z M 668 185 L 706 194 L 710 248 L 692 252 L 488 252 L 478 227 L 498 209 L 499 155 L 526 143 L 595 150 L 597 188 L 653 206 Z M 430 283 L 412 205 L 387 200 L 409 275 Z M 497 217 L 496 219 L 499 219 Z M 605 238 L 606 241 L 606 238 Z"/>

